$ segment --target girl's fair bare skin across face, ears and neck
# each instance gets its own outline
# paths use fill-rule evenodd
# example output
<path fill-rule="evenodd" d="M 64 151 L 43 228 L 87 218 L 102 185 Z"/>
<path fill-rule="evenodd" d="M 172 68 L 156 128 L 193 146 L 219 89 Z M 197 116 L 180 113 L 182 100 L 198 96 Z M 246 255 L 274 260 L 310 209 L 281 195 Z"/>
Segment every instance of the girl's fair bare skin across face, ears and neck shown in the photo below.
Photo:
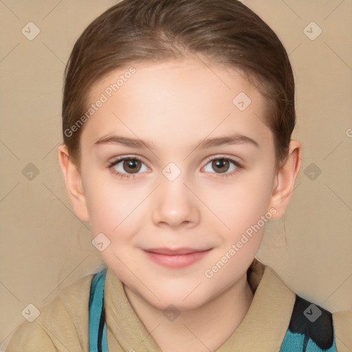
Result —
<path fill-rule="evenodd" d="M 234 69 L 195 58 L 134 67 L 136 73 L 85 122 L 80 169 L 64 144 L 59 147 L 61 168 L 76 214 L 91 222 L 94 236 L 102 232 L 109 239 L 100 254 L 124 283 L 131 305 L 162 351 L 214 350 L 252 303 L 246 271 L 264 227 L 212 278 L 204 272 L 270 209 L 276 212 L 272 219 L 283 215 L 301 147 L 292 140 L 285 163 L 276 169 L 272 132 L 262 122 L 265 99 Z M 98 81 L 89 101 L 96 102 L 123 72 Z M 241 91 L 252 100 L 244 111 L 232 103 Z M 258 146 L 242 141 L 195 148 L 202 140 L 235 134 Z M 154 149 L 96 144 L 112 135 L 150 141 Z M 135 164 L 135 177 L 116 175 L 133 173 L 127 162 L 109 168 L 117 157 L 135 155 L 143 162 Z M 219 169 L 207 159 L 224 156 L 241 166 L 230 162 Z M 170 162 L 181 171 L 173 181 L 162 173 Z M 158 265 L 142 250 L 183 247 L 211 250 L 180 269 Z M 173 322 L 163 314 L 170 304 L 181 312 Z"/>

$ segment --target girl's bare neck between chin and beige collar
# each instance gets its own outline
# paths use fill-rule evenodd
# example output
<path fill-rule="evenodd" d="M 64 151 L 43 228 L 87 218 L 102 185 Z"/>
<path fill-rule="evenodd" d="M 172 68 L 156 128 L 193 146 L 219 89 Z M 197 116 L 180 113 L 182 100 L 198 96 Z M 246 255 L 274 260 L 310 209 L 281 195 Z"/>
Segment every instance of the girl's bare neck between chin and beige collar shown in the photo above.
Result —
<path fill-rule="evenodd" d="M 128 287 L 126 296 L 140 320 L 163 352 L 208 352 L 218 349 L 239 327 L 252 303 L 247 276 L 196 309 L 181 311 L 168 322 L 164 312 L 147 303 Z"/>

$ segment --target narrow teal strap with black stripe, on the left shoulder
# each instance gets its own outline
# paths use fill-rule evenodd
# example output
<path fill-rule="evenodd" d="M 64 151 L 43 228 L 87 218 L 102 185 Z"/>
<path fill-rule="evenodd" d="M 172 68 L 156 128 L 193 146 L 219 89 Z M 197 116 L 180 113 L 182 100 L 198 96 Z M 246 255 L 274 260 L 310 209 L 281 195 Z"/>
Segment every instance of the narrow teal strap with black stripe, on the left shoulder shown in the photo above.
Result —
<path fill-rule="evenodd" d="M 108 352 L 104 314 L 104 283 L 107 268 L 91 281 L 89 294 L 89 352 Z"/>

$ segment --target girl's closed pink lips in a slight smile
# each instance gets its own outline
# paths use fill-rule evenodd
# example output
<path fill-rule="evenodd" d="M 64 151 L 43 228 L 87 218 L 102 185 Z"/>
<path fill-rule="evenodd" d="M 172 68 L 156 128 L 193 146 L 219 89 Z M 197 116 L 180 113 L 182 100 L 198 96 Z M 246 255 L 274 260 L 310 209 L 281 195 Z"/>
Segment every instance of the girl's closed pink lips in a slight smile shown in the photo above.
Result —
<path fill-rule="evenodd" d="M 144 253 L 154 263 L 163 267 L 180 269 L 188 267 L 203 259 L 211 248 L 208 250 L 199 250 L 196 248 L 149 248 Z"/>

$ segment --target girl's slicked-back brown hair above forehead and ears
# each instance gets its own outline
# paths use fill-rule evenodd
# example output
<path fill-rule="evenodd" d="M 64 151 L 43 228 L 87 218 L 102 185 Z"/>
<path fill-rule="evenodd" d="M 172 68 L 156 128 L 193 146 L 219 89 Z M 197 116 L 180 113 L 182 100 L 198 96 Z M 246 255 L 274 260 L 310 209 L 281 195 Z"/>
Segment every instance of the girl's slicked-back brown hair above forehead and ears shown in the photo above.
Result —
<path fill-rule="evenodd" d="M 292 67 L 276 34 L 236 0 L 123 0 L 95 19 L 76 41 L 65 69 L 63 139 L 73 162 L 79 167 L 83 126 L 67 131 L 87 111 L 94 83 L 142 60 L 195 54 L 238 69 L 267 98 L 265 123 L 279 166 L 296 120 Z"/>

